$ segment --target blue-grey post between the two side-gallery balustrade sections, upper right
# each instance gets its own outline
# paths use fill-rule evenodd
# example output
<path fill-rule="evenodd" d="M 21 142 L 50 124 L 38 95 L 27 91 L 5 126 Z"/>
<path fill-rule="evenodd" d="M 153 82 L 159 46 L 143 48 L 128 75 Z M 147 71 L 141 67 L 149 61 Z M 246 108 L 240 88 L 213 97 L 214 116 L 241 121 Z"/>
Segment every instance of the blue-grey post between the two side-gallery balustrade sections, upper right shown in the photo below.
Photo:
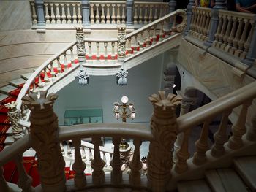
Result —
<path fill-rule="evenodd" d="M 209 30 L 208 39 L 205 42 L 206 46 L 210 46 L 215 39 L 215 33 L 219 25 L 219 9 L 225 9 L 225 0 L 216 0 L 214 9 L 211 9 L 211 26 Z"/>

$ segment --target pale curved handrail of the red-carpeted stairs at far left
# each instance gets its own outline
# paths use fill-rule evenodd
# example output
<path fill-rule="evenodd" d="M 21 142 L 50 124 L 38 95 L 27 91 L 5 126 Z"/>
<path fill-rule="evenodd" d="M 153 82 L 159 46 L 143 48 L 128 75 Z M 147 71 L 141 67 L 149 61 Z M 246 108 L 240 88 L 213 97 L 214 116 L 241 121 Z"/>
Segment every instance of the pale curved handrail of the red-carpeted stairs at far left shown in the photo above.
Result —
<path fill-rule="evenodd" d="M 26 81 L 25 85 L 23 85 L 23 88 L 21 89 L 18 98 L 16 100 L 17 102 L 17 109 L 18 112 L 20 111 L 20 107 L 21 107 L 21 99 L 23 96 L 26 95 L 27 91 L 29 91 L 30 85 L 31 83 L 34 82 L 34 79 L 42 72 L 43 69 L 45 69 L 45 67 L 47 67 L 50 62 L 56 60 L 56 58 L 59 58 L 60 55 L 62 55 L 63 53 L 65 53 L 67 50 L 69 50 L 69 48 L 73 47 L 76 44 L 76 42 L 71 42 L 67 47 L 65 47 L 63 50 L 59 51 L 58 53 L 56 53 L 55 55 L 53 55 L 51 58 L 48 58 L 48 60 L 46 60 L 41 66 L 39 66 L 35 72 L 33 74 L 31 74 L 31 76 L 29 77 L 29 79 Z"/>

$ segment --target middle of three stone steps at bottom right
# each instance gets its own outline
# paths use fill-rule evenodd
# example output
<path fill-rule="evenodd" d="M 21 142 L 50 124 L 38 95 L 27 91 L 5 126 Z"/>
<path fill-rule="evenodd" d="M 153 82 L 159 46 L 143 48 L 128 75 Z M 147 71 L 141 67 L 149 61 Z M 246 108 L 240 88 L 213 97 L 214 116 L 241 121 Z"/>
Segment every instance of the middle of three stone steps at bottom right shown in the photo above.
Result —
<path fill-rule="evenodd" d="M 206 179 L 212 191 L 242 192 L 247 191 L 239 175 L 233 169 L 215 169 L 206 172 Z"/>

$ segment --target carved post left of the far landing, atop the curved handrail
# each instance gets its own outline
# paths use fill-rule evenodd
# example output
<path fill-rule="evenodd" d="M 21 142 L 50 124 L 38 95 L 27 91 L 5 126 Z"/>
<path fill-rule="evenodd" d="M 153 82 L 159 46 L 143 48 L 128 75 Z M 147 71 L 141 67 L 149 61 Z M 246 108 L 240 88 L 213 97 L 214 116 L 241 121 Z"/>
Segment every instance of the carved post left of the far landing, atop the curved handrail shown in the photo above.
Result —
<path fill-rule="evenodd" d="M 86 62 L 86 47 L 84 45 L 83 28 L 76 28 L 77 50 L 79 63 Z"/>

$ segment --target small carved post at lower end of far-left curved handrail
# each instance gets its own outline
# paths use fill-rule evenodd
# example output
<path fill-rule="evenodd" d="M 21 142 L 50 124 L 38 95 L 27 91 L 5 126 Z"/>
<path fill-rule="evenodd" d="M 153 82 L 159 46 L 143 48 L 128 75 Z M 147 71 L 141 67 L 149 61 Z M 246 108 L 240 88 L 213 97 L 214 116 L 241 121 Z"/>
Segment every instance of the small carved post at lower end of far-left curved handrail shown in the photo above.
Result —
<path fill-rule="evenodd" d="M 12 126 L 12 137 L 15 141 L 24 136 L 23 128 L 18 123 L 19 116 L 17 110 L 17 103 L 12 101 L 11 103 L 4 104 L 8 108 L 8 117 Z"/>

